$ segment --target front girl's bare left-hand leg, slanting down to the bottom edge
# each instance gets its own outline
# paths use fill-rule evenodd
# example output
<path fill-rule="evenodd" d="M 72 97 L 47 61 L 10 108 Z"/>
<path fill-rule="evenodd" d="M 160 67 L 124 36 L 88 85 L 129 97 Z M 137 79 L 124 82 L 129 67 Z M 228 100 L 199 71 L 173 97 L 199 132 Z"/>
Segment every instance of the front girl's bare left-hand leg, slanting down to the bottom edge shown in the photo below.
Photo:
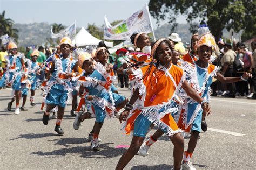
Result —
<path fill-rule="evenodd" d="M 144 138 L 139 136 L 133 136 L 131 145 L 128 150 L 122 155 L 120 160 L 118 161 L 116 169 L 124 169 L 124 167 L 130 162 L 130 160 L 136 155 L 139 151 L 140 146 L 143 143 Z"/>

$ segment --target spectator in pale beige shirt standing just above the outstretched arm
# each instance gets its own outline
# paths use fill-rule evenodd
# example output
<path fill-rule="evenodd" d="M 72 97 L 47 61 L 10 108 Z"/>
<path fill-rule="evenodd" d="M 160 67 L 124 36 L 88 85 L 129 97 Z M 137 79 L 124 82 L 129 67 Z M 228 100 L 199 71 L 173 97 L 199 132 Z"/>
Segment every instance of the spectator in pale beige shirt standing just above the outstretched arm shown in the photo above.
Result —
<path fill-rule="evenodd" d="M 221 72 L 224 77 L 233 77 L 233 62 L 237 54 L 232 50 L 231 44 L 228 43 L 225 43 L 224 45 L 224 52 L 225 54 L 220 59 L 222 66 Z M 226 87 L 228 91 L 225 94 L 225 97 L 235 97 L 234 84 L 226 84 Z"/>

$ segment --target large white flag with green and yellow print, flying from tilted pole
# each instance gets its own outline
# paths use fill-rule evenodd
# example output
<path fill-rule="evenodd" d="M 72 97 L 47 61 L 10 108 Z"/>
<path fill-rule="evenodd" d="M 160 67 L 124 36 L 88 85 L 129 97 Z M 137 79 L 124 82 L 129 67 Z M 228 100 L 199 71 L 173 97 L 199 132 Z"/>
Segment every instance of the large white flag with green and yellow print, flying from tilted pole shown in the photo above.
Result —
<path fill-rule="evenodd" d="M 149 7 L 133 13 L 129 18 L 123 20 L 117 25 L 111 26 L 105 16 L 104 39 L 108 40 L 127 40 L 135 32 L 153 32 Z"/>

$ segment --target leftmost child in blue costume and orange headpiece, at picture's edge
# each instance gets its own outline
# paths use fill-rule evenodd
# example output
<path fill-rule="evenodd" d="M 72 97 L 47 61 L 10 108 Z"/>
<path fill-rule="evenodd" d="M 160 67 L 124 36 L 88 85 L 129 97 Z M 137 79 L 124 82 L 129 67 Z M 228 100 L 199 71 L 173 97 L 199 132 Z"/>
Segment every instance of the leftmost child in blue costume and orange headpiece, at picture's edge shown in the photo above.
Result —
<path fill-rule="evenodd" d="M 22 77 L 22 68 L 24 67 L 24 61 L 22 59 L 21 53 L 17 51 L 17 45 L 12 41 L 8 44 L 8 50 L 10 55 L 5 56 L 7 70 L 3 74 L 3 77 L 0 81 L 0 89 L 9 84 L 14 90 L 15 99 L 16 99 L 16 108 L 15 114 L 20 114 L 19 112 L 19 92 L 21 87 L 21 77 Z M 8 108 L 11 108 L 11 102 L 8 103 Z M 8 110 L 9 110 L 8 109 Z"/>

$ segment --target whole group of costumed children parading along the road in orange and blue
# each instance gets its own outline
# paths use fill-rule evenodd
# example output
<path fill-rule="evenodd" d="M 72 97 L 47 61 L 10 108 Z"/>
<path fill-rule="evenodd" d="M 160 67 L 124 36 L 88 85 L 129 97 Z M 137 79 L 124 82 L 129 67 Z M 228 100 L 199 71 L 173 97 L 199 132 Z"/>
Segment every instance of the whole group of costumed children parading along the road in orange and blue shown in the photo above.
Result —
<path fill-rule="evenodd" d="M 100 151 L 99 133 L 105 118 L 117 117 L 120 123 L 123 122 L 124 132 L 132 134 L 130 147 L 118 161 L 116 169 L 123 169 L 136 154 L 149 155 L 150 146 L 163 134 L 173 143 L 173 169 L 196 169 L 190 159 L 199 133 L 202 128 L 207 130 L 205 117 L 211 114 L 210 85 L 213 77 L 223 83 L 232 83 L 245 81 L 252 75 L 245 72 L 241 77 L 223 77 L 219 73 L 219 69 L 211 64 L 216 49 L 215 38 L 205 25 L 199 26 L 198 33 L 192 36 L 191 49 L 182 59 L 179 58 L 180 53 L 174 51 L 173 44 L 165 38 L 151 46 L 149 36 L 140 32 L 131 36 L 131 42 L 141 51 L 127 53 L 122 66 L 117 69 L 119 75 L 129 77 L 132 89 L 128 100 L 119 95 L 113 85 L 115 76 L 113 65 L 108 63 L 107 48 L 98 47 L 94 51 L 73 49 L 71 39 L 63 37 L 59 43 L 60 52 L 50 56 L 50 64 L 39 65 L 36 62 L 38 51 L 33 51 L 31 60 L 25 60 L 10 39 L 7 46 L 9 55 L 5 57 L 6 68 L 0 81 L 0 89 L 11 86 L 13 90 L 8 110 L 16 101 L 15 114 L 19 114 L 21 97 L 21 110 L 25 110 L 29 89 L 30 104 L 35 106 L 36 74 L 45 69 L 49 80 L 42 86 L 42 108 L 46 105 L 42 120 L 44 125 L 48 125 L 50 112 L 57 112 L 54 130 L 63 135 L 60 125 L 68 98 L 73 97 L 71 115 L 75 116 L 76 96 L 79 95 L 78 111 L 85 107 L 86 112 L 78 112 L 73 129 L 78 130 L 85 119 L 96 118 L 89 133 L 91 151 Z M 124 111 L 120 112 L 122 108 Z M 158 130 L 144 141 L 153 126 L 157 126 Z M 184 133 L 190 133 L 185 152 Z"/>

